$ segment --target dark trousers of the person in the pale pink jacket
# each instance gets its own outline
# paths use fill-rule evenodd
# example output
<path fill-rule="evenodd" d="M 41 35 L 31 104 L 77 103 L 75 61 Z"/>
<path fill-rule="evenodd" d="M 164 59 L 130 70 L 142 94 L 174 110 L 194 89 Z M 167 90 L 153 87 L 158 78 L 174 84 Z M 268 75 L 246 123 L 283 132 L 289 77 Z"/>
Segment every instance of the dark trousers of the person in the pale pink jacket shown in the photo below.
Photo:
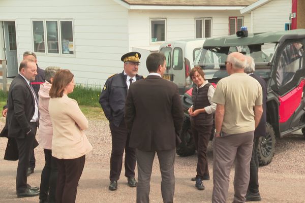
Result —
<path fill-rule="evenodd" d="M 45 154 L 45 166 L 41 172 L 39 199 L 49 199 L 49 203 L 54 203 L 57 181 L 57 163 L 55 157 L 52 156 L 52 150 L 43 149 L 43 151 Z"/>

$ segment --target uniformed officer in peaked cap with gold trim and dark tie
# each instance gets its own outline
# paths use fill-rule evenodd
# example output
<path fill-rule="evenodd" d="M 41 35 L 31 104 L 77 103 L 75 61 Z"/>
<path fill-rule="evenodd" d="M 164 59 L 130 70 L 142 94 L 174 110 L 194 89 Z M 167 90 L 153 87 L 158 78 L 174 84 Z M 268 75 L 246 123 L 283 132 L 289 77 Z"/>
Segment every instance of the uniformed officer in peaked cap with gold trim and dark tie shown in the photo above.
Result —
<path fill-rule="evenodd" d="M 135 179 L 136 153 L 129 147 L 130 134 L 124 122 L 125 100 L 129 85 L 143 79 L 139 76 L 139 59 L 141 54 L 129 52 L 121 57 L 124 71 L 109 77 L 100 95 L 100 104 L 109 121 L 112 151 L 110 157 L 110 185 L 109 190 L 117 189 L 117 181 L 122 168 L 125 149 L 125 176 L 130 187 L 136 187 Z"/>

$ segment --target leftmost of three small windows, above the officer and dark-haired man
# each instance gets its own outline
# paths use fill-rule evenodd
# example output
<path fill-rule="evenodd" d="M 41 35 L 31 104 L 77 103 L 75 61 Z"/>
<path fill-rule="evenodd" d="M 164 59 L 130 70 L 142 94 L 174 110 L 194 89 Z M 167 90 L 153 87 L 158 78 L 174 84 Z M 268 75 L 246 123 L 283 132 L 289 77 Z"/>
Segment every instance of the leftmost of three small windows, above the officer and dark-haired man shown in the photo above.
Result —
<path fill-rule="evenodd" d="M 165 19 L 151 19 L 151 42 L 163 42 L 166 39 Z"/>

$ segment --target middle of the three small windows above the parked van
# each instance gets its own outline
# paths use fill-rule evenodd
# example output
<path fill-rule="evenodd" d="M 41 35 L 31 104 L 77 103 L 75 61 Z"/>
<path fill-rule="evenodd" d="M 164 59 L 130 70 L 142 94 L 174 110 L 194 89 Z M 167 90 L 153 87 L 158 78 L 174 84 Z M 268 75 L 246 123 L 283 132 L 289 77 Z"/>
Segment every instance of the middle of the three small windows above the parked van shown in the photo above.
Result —
<path fill-rule="evenodd" d="M 212 36 L 212 19 L 196 19 L 196 38 L 210 38 Z"/>

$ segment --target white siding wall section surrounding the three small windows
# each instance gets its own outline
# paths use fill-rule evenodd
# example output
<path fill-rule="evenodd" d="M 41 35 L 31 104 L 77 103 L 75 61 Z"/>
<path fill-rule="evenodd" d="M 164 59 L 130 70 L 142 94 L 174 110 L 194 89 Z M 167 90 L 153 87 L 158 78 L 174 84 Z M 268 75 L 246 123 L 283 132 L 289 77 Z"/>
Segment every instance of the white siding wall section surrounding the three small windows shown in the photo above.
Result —
<path fill-rule="evenodd" d="M 195 38 L 195 18 L 212 18 L 212 37 L 229 33 L 229 17 L 244 17 L 244 25 L 250 27 L 250 14 L 238 11 L 181 11 L 181 10 L 132 10 L 129 12 L 129 47 L 157 49 L 163 42 L 150 42 L 149 19 L 166 19 L 166 41 Z M 143 52 L 142 52 L 143 53 Z M 147 52 L 148 53 L 148 52 Z M 147 55 L 146 52 L 143 55 Z M 140 59 L 139 74 L 147 75 L 146 58 Z"/>

